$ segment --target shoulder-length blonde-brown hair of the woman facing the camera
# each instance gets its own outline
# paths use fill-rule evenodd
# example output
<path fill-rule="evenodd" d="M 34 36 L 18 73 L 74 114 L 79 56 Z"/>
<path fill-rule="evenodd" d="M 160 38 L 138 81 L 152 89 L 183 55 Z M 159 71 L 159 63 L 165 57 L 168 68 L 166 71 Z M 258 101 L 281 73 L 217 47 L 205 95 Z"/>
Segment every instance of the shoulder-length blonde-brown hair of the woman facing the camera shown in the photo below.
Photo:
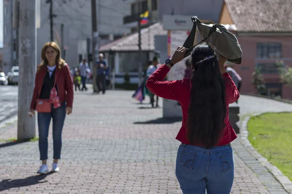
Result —
<path fill-rule="evenodd" d="M 58 65 L 59 69 L 61 69 L 65 65 L 65 60 L 61 58 L 61 50 L 58 47 L 58 45 L 55 42 L 46 42 L 44 44 L 43 48 L 41 49 L 41 60 L 42 60 L 42 62 L 37 67 L 37 72 L 39 70 L 41 70 L 44 66 L 48 65 L 48 63 L 49 63 L 49 61 L 48 61 L 48 59 L 46 57 L 46 51 L 47 51 L 48 47 L 52 47 L 55 50 L 55 52 L 57 52 L 57 56 L 56 56 L 56 61 L 55 62 Z"/>

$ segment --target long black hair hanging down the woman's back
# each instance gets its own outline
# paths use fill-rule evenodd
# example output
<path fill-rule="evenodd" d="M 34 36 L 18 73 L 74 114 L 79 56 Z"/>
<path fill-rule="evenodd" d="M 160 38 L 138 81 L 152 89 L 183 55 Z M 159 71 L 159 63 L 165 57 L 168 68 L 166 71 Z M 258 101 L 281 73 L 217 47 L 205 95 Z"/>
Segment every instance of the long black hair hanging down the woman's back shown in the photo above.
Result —
<path fill-rule="evenodd" d="M 211 56 L 211 57 L 210 57 Z M 209 59 L 203 60 L 209 57 Z M 191 143 L 214 147 L 225 127 L 227 113 L 224 80 L 214 50 L 205 42 L 191 53 L 193 76 L 187 118 Z"/>

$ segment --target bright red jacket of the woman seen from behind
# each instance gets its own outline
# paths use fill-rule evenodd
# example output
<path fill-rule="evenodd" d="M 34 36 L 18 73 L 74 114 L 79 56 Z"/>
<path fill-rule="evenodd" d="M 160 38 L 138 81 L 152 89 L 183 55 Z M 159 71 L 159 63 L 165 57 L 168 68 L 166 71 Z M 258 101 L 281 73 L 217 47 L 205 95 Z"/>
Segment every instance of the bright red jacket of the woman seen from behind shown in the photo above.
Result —
<path fill-rule="evenodd" d="M 183 111 L 183 122 L 176 139 L 178 141 L 181 141 L 182 143 L 191 144 L 186 138 L 187 131 L 185 125 L 190 102 L 190 91 L 192 88 L 192 82 L 191 79 L 188 78 L 184 78 L 183 80 L 163 81 L 168 71 L 169 68 L 166 65 L 162 65 L 148 78 L 146 82 L 146 87 L 157 96 L 180 102 Z M 229 122 L 228 105 L 237 101 L 237 99 L 239 98 L 239 92 L 227 72 L 223 73 L 222 77 L 225 81 L 227 114 L 225 117 L 226 127 L 224 129 L 223 136 L 219 140 L 218 145 L 228 144 L 237 138 L 237 134 Z"/>

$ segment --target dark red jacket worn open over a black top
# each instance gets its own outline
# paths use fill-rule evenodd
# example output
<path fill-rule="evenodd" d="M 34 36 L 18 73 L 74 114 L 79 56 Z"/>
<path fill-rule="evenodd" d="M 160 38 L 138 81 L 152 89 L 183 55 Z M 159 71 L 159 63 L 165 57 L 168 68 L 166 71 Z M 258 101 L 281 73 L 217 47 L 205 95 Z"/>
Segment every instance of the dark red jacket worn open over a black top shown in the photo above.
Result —
<path fill-rule="evenodd" d="M 36 73 L 36 81 L 34 94 L 31 102 L 31 109 L 36 109 L 36 100 L 40 95 L 41 88 L 43 85 L 44 77 L 48 71 L 47 66 L 43 67 L 39 72 Z M 65 66 L 59 69 L 56 66 L 55 73 L 57 74 L 56 85 L 58 88 L 58 94 L 61 102 L 67 102 L 66 106 L 73 107 L 73 82 L 71 79 L 69 66 L 65 63 Z"/>

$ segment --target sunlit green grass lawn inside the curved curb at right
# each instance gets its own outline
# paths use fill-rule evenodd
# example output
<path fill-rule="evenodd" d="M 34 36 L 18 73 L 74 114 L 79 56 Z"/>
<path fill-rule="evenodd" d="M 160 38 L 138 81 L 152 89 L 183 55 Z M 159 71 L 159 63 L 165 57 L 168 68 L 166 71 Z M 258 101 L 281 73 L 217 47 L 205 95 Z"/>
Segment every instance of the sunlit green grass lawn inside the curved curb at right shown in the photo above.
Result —
<path fill-rule="evenodd" d="M 247 123 L 255 149 L 292 180 L 292 113 L 265 113 Z"/>

